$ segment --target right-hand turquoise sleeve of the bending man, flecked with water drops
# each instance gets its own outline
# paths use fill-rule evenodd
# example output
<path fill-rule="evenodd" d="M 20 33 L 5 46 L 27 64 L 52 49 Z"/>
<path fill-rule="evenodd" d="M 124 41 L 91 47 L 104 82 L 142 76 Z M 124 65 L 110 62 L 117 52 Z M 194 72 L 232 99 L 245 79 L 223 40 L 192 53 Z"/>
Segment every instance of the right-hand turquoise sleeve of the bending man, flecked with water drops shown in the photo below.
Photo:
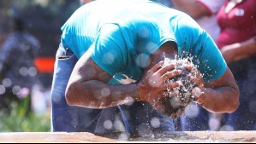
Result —
<path fill-rule="evenodd" d="M 193 64 L 203 74 L 205 82 L 217 80 L 227 70 L 216 43 L 192 18 L 183 15 L 176 23 L 176 38 L 179 56 L 191 58 Z"/>

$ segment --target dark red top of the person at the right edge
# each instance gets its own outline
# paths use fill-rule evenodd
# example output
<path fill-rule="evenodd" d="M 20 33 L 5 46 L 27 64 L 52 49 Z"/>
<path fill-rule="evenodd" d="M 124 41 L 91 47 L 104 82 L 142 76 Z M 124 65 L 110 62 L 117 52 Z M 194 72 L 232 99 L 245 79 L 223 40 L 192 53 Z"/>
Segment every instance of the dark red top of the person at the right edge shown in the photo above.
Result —
<path fill-rule="evenodd" d="M 217 14 L 217 23 L 221 27 L 217 38 L 220 49 L 256 35 L 256 0 L 244 0 L 226 14 L 224 9 L 228 3 L 229 0 L 226 0 Z"/>

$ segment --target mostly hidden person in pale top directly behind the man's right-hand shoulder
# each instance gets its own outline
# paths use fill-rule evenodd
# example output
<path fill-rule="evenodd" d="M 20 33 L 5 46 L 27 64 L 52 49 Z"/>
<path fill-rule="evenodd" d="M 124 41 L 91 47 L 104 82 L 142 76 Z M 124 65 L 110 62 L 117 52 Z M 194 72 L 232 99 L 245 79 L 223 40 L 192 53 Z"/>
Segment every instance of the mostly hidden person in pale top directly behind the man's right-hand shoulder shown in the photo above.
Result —
<path fill-rule="evenodd" d="M 190 15 L 216 41 L 220 32 L 217 13 L 224 0 L 172 0 L 173 8 Z M 184 117 L 177 121 L 177 130 L 219 130 L 222 114 L 207 112 L 192 103 Z"/>

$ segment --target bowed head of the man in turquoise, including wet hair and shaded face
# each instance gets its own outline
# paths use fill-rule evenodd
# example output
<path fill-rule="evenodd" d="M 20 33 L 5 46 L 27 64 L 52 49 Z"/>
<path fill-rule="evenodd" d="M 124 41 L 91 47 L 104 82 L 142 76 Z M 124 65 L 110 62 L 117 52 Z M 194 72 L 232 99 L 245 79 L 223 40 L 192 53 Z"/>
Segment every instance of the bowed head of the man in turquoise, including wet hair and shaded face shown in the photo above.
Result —
<path fill-rule="evenodd" d="M 175 65 L 176 70 L 182 70 L 182 74 L 171 79 L 166 79 L 165 83 L 179 82 L 179 87 L 176 89 L 167 89 L 164 93 L 166 97 L 159 100 L 163 105 L 164 114 L 177 119 L 184 112 L 188 104 L 193 100 L 192 89 L 195 84 L 190 80 L 192 71 L 188 71 L 187 64 L 192 64 L 191 60 L 181 59 L 178 57 L 177 44 L 175 42 L 164 43 L 155 53 L 151 55 L 151 60 L 158 63 L 164 60 L 164 65 Z"/>

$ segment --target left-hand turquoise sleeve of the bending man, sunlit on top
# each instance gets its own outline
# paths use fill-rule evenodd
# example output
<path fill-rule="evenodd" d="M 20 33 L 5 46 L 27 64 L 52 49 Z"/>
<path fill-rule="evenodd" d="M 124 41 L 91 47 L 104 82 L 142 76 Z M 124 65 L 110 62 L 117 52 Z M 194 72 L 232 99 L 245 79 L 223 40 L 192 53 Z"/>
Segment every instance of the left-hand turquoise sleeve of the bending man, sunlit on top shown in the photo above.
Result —
<path fill-rule="evenodd" d="M 114 75 L 127 65 L 128 49 L 119 26 L 107 24 L 100 29 L 89 48 L 92 60 L 105 72 Z"/>

